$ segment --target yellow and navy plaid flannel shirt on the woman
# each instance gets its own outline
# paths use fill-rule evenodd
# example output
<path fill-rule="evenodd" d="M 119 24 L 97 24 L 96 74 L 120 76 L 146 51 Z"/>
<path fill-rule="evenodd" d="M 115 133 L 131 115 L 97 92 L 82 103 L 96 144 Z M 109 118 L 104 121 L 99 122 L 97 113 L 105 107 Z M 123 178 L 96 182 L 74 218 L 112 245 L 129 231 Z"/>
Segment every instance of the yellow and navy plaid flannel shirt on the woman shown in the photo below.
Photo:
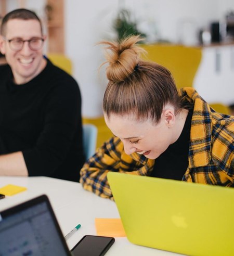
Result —
<path fill-rule="evenodd" d="M 194 105 L 189 164 L 182 180 L 234 187 L 234 117 L 215 112 L 191 87 L 180 89 L 179 95 Z M 84 189 L 113 200 L 109 171 L 149 176 L 153 165 L 144 155 L 126 155 L 121 140 L 113 137 L 84 164 L 80 182 Z"/>

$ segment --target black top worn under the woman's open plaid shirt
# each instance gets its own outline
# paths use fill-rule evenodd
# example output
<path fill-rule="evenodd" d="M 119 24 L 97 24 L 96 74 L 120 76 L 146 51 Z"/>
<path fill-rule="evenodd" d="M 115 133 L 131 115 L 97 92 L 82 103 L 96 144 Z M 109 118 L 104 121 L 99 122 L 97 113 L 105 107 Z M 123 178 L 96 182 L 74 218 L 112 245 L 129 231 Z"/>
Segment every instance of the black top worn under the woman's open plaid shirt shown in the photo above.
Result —
<path fill-rule="evenodd" d="M 192 111 L 189 111 L 179 138 L 155 159 L 152 177 L 182 180 L 188 168 L 191 120 Z"/>

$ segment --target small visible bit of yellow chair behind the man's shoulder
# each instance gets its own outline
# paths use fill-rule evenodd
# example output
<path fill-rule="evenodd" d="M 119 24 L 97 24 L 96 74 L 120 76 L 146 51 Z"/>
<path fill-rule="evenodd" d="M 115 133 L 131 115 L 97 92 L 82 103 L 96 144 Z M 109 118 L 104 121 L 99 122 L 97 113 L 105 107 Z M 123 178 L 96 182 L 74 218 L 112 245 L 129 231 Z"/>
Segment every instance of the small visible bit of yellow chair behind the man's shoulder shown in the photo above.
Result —
<path fill-rule="evenodd" d="M 47 54 L 48 59 L 60 69 L 66 71 L 70 75 L 72 74 L 72 62 L 63 54 Z"/>

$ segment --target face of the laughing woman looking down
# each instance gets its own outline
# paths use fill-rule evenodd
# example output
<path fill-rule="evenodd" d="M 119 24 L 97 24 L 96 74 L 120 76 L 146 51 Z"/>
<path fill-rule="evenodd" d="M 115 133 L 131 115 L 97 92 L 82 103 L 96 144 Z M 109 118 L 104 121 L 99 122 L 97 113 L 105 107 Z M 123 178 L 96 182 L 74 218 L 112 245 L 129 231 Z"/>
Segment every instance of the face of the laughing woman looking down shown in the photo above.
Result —
<path fill-rule="evenodd" d="M 139 122 L 134 117 L 120 114 L 110 114 L 109 118 L 105 116 L 105 120 L 113 134 L 121 139 L 127 155 L 136 152 L 139 155 L 147 156 L 149 159 L 155 159 L 177 139 L 173 137 L 172 129 L 168 129 L 168 125 L 171 127 L 172 122 L 174 122 L 169 119 L 175 119 L 175 117 L 170 116 L 172 113 L 169 111 L 172 110 L 167 107 L 167 120 L 171 122 L 170 124 L 163 118 L 158 124 L 155 124 L 152 120 Z M 179 128 L 182 129 L 183 126 L 180 125 L 178 132 L 175 132 L 177 137 L 181 133 Z"/>

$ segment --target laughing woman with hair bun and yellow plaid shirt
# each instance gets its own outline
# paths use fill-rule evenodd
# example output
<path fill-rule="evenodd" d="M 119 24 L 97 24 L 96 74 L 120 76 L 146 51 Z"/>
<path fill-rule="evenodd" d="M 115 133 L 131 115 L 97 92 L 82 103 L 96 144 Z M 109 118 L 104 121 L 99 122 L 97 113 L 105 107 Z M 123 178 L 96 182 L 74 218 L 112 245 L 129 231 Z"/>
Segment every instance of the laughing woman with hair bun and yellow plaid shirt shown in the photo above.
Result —
<path fill-rule="evenodd" d="M 113 199 L 109 171 L 234 186 L 233 117 L 193 88 L 177 91 L 170 71 L 141 59 L 139 41 L 102 42 L 109 63 L 103 112 L 115 138 L 84 164 L 83 187 Z"/>

